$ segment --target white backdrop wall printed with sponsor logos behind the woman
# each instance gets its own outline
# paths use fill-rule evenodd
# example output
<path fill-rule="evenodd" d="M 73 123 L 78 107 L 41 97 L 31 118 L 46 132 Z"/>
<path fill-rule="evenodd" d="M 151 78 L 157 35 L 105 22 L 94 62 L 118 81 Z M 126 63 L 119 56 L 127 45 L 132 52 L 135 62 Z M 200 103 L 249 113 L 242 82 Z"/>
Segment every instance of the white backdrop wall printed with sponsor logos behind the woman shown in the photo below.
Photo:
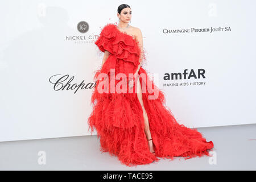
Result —
<path fill-rule="evenodd" d="M 147 51 L 144 68 L 159 74 L 179 123 L 255 123 L 255 1 L 1 1 L 0 141 L 90 134 L 92 89 L 85 86 L 103 56 L 93 41 L 118 21 L 121 3 L 131 6 Z M 81 21 L 89 24 L 84 34 Z M 211 27 L 217 31 L 205 31 Z M 185 69 L 203 69 L 205 78 L 163 79 Z M 62 89 L 68 83 L 73 87 Z"/>

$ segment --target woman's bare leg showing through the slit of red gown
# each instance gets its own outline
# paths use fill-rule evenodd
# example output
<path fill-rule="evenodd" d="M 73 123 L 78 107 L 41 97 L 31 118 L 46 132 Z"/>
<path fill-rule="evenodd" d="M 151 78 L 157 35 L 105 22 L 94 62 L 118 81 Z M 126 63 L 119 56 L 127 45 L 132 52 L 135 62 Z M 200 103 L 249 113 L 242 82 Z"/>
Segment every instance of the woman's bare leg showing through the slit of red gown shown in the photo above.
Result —
<path fill-rule="evenodd" d="M 149 127 L 149 123 L 148 123 L 147 112 L 144 108 L 143 100 L 142 100 L 142 90 L 141 90 L 141 84 L 140 84 L 140 81 L 139 81 L 139 77 L 138 77 L 138 81 L 137 81 L 137 96 L 138 96 L 139 103 L 141 104 L 142 110 L 143 110 L 144 132 L 146 134 L 147 139 L 151 139 L 151 133 L 150 133 L 150 127 Z M 150 152 L 155 152 L 152 140 L 148 141 L 148 146 L 150 148 Z"/>

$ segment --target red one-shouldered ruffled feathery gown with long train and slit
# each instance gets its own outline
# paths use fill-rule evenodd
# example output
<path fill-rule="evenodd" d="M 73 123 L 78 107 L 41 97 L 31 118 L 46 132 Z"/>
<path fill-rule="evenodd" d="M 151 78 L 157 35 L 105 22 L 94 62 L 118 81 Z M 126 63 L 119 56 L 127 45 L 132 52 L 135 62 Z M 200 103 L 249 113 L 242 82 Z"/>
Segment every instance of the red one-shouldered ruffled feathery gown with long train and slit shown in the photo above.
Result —
<path fill-rule="evenodd" d="M 141 56 L 137 40 L 119 31 L 116 24 L 108 23 L 102 28 L 95 44 L 100 51 L 110 52 L 104 65 L 96 70 L 94 75 L 96 87 L 91 100 L 93 111 L 88 119 L 91 134 L 94 129 L 97 130 L 102 152 L 117 156 L 118 160 L 127 166 L 149 164 L 154 160 L 158 161 L 157 157 L 173 160 L 174 156 L 187 157 L 186 159 L 203 155 L 211 156 L 209 150 L 213 148 L 213 142 L 207 142 L 196 129 L 189 129 L 177 123 L 171 110 L 166 106 L 164 93 L 154 85 L 154 82 L 147 77 L 147 72 L 141 67 L 138 74 L 144 73 L 146 78 L 140 77 L 140 83 L 141 86 L 142 82 L 146 83 L 147 88 L 146 93 L 142 93 L 143 104 L 147 112 L 156 155 L 151 154 L 143 129 L 143 110 L 135 93 L 135 86 L 133 93 L 110 91 L 113 83 L 114 86 L 119 86 L 118 82 L 120 82 L 117 78 L 114 80 L 110 78 L 111 74 L 117 76 L 118 73 L 124 73 L 123 79 L 126 80 L 129 79 L 129 73 L 137 71 Z M 103 76 L 100 77 L 100 75 Z M 106 79 L 107 76 L 108 79 Z M 105 77 L 105 86 L 102 86 L 104 85 L 103 77 Z M 148 86 L 150 84 L 152 89 L 158 89 L 158 97 L 155 99 L 148 97 L 154 94 L 148 92 L 151 88 Z M 100 86 L 109 93 L 99 91 Z"/>

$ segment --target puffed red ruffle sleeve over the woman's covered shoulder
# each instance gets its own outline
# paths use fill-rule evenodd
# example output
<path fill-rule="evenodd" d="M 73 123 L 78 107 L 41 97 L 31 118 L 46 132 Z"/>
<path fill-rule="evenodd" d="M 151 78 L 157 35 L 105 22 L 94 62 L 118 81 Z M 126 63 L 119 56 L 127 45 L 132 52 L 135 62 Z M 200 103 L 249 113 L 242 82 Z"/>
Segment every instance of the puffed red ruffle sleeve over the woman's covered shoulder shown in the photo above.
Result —
<path fill-rule="evenodd" d="M 100 51 L 105 52 L 106 50 L 113 54 L 112 42 L 114 38 L 115 38 L 115 35 L 112 29 L 112 24 L 108 23 L 102 28 L 100 36 L 94 43 L 98 46 Z"/>

